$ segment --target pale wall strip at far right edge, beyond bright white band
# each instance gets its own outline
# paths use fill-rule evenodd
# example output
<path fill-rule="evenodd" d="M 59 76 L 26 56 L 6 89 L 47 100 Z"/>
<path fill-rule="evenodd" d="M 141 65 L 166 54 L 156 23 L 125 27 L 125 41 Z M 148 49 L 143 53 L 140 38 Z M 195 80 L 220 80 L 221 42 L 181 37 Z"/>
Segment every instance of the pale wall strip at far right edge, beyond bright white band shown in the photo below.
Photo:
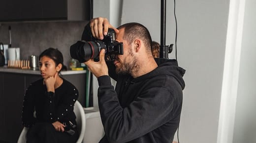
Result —
<path fill-rule="evenodd" d="M 233 143 L 256 143 L 256 0 L 246 0 Z"/>

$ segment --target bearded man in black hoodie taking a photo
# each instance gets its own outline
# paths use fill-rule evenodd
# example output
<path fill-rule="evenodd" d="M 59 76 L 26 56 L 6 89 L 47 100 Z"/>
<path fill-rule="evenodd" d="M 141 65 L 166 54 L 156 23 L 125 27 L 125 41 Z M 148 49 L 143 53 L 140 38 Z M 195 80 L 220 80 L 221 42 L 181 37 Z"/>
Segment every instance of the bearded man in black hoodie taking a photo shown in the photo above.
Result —
<path fill-rule="evenodd" d="M 99 85 L 98 106 L 105 131 L 99 143 L 171 143 L 180 122 L 185 70 L 176 60 L 153 58 L 152 39 L 142 24 L 116 29 L 107 19 L 95 18 L 85 27 L 82 40 L 103 40 L 109 28 L 114 29 L 114 40 L 123 53 L 117 52 L 114 61 L 106 60 L 111 48 L 100 46 L 99 60 L 92 55 L 84 60 Z M 115 89 L 110 77 L 117 81 Z"/>

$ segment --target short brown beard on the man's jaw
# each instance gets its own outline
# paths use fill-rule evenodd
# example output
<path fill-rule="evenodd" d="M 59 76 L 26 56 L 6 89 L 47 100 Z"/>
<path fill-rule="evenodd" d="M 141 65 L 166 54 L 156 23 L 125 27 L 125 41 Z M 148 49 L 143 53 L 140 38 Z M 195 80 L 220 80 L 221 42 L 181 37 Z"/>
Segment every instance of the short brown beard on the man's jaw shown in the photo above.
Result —
<path fill-rule="evenodd" d="M 130 59 L 130 61 L 128 61 Z M 139 70 L 139 64 L 136 57 L 133 56 L 130 50 L 128 56 L 125 58 L 124 63 L 121 63 L 119 68 L 116 68 L 117 74 L 132 74 Z"/>

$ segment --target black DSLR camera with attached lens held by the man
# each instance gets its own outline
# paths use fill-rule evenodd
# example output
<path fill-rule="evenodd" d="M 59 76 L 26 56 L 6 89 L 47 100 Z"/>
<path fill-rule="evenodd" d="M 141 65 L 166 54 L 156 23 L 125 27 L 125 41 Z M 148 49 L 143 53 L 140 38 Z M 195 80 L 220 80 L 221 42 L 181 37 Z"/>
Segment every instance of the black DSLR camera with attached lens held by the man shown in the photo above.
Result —
<path fill-rule="evenodd" d="M 116 41 L 115 34 L 114 29 L 109 28 L 103 40 L 77 41 L 70 46 L 70 55 L 73 59 L 78 60 L 79 63 L 84 63 L 90 59 L 99 60 L 99 52 L 104 48 L 105 60 L 114 61 L 116 55 L 124 54 L 123 43 Z"/>

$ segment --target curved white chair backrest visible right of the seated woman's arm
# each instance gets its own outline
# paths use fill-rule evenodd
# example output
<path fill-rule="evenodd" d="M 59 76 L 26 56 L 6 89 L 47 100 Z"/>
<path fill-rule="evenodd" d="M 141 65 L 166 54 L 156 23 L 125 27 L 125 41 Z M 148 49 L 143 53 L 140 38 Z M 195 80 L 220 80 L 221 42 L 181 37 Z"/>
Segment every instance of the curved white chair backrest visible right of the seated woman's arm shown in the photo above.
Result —
<path fill-rule="evenodd" d="M 82 143 L 85 135 L 86 118 L 84 108 L 78 101 L 75 102 L 74 113 L 76 116 L 77 130 L 79 132 L 79 138 L 76 143 Z"/>

